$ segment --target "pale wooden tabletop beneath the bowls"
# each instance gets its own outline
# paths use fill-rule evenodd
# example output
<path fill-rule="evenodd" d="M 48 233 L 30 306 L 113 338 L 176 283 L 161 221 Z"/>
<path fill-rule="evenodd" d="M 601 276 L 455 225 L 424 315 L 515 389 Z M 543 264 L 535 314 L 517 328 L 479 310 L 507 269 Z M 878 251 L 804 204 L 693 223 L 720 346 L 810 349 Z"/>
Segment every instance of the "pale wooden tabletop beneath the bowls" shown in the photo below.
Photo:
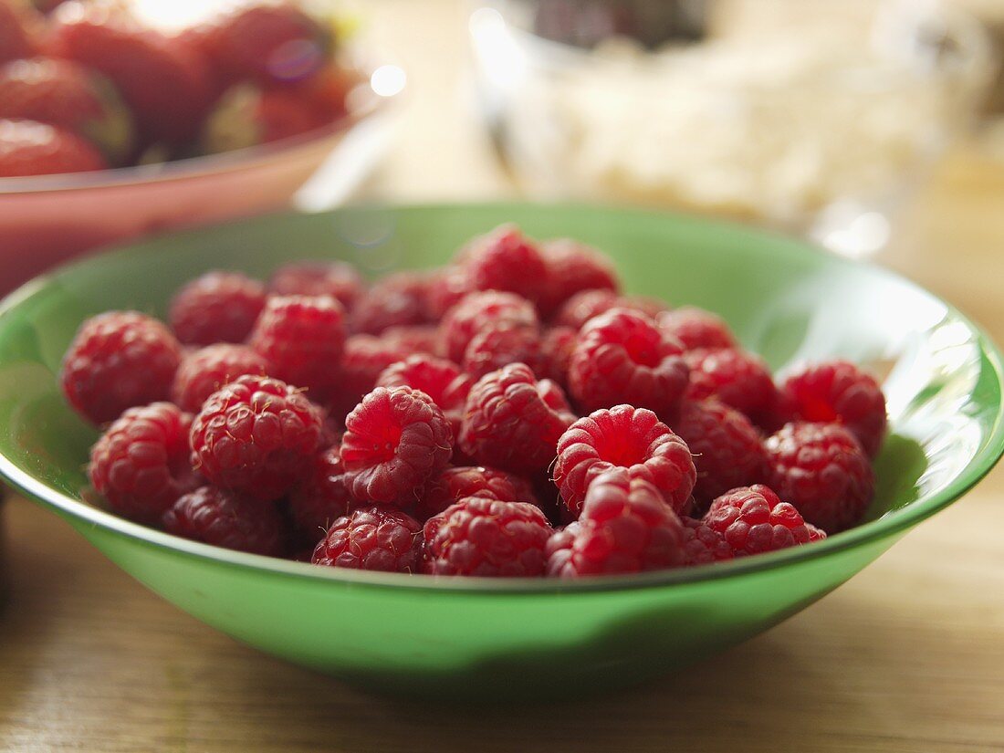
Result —
<path fill-rule="evenodd" d="M 370 3 L 412 99 L 367 196 L 509 195 L 462 90 L 453 3 Z M 1004 342 L 1004 166 L 949 159 L 880 259 Z M 465 710 L 373 698 L 245 648 L 54 516 L 7 510 L 10 751 L 1002 751 L 1004 472 L 780 626 L 603 701 Z"/>

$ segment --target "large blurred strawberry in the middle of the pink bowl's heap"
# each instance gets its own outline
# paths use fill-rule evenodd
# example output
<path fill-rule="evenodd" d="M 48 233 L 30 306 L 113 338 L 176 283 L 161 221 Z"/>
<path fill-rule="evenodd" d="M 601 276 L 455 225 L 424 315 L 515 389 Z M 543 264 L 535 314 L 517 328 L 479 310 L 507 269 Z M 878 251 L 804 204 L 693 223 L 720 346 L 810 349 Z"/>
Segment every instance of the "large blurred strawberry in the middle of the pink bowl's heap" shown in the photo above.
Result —
<path fill-rule="evenodd" d="M 205 60 L 126 11 L 77 0 L 52 14 L 48 47 L 111 79 L 148 142 L 177 145 L 199 131 L 212 95 Z"/>

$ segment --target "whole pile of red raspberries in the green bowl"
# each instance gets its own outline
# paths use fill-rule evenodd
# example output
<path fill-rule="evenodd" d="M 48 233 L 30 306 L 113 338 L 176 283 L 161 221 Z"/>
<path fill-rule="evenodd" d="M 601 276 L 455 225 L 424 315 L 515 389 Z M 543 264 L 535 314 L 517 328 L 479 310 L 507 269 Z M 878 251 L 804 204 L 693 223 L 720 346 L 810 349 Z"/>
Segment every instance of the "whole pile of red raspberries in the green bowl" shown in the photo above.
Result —
<path fill-rule="evenodd" d="M 775 382 L 718 316 L 626 295 L 596 250 L 503 226 L 367 285 L 342 262 L 210 272 L 168 322 L 85 321 L 63 392 L 107 507 L 217 546 L 435 575 L 630 573 L 860 520 L 870 375 Z"/>

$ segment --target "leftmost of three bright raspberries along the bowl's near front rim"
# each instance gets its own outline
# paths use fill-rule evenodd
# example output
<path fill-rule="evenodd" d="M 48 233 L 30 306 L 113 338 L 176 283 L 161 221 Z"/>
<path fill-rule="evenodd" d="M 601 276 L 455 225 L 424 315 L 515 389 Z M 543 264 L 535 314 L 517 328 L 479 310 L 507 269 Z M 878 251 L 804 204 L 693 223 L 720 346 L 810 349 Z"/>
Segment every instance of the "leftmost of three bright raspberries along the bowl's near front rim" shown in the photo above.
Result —
<path fill-rule="evenodd" d="M 422 524 L 400 510 L 354 510 L 334 521 L 310 561 L 356 570 L 419 572 Z"/>

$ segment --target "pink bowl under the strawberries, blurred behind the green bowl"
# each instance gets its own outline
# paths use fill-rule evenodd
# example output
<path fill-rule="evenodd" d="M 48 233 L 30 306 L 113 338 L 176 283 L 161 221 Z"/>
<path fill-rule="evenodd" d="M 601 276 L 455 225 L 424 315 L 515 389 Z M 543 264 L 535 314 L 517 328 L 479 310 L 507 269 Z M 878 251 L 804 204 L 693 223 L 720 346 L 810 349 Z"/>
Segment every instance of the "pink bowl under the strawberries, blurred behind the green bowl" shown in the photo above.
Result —
<path fill-rule="evenodd" d="M 0 179 L 0 295 L 112 242 L 288 205 L 332 150 L 386 108 L 390 97 L 359 88 L 352 114 L 281 142 L 163 165 Z"/>

